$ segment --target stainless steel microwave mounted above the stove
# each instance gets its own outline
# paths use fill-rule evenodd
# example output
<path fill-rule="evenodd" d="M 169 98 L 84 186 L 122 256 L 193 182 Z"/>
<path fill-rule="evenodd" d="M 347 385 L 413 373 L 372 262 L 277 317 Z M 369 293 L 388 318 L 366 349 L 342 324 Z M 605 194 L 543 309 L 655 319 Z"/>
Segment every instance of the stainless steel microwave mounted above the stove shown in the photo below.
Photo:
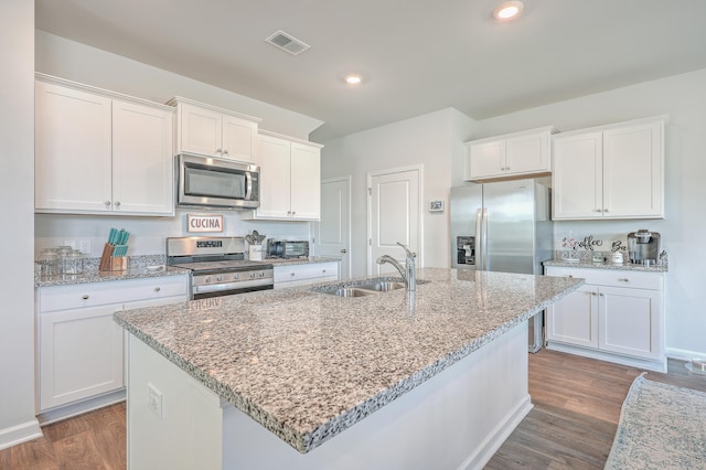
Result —
<path fill-rule="evenodd" d="M 260 205 L 256 164 L 182 153 L 176 157 L 176 205 L 255 209 Z"/>

